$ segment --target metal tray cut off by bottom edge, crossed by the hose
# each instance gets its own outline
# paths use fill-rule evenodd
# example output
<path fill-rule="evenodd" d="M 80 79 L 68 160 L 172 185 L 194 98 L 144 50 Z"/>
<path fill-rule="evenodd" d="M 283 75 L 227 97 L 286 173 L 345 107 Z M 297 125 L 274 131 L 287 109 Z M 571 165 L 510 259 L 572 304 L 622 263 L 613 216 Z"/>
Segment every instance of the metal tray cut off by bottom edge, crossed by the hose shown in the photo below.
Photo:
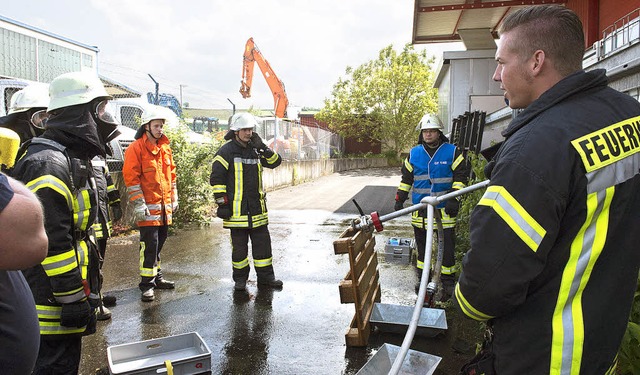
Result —
<path fill-rule="evenodd" d="M 400 353 L 399 346 L 382 344 L 378 352 L 371 357 L 356 375 L 388 374 L 398 353 Z M 432 375 L 441 360 L 441 357 L 409 349 L 398 373 Z"/>

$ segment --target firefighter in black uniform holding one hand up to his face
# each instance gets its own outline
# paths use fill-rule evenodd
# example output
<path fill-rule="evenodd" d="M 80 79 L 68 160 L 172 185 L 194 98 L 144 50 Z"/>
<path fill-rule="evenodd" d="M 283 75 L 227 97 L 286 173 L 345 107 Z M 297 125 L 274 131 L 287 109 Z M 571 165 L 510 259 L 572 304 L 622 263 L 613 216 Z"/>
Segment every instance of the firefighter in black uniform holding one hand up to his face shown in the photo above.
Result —
<path fill-rule="evenodd" d="M 232 116 L 229 131 L 211 168 L 210 184 L 218 204 L 217 216 L 231 231 L 234 289 L 245 290 L 249 278 L 249 239 L 253 266 L 259 286 L 282 288 L 275 278 L 269 235 L 266 192 L 262 188 L 262 169 L 276 168 L 282 162 L 253 131 L 257 121 L 249 113 Z"/>

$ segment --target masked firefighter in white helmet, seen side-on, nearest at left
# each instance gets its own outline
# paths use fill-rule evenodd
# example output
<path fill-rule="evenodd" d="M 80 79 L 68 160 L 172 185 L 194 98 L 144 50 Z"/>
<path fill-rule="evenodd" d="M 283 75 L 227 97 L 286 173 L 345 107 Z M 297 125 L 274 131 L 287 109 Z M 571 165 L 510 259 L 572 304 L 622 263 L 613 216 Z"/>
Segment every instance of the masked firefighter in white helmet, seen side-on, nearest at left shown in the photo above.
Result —
<path fill-rule="evenodd" d="M 91 225 L 97 214 L 91 159 L 105 156 L 118 124 L 102 117 L 111 97 L 100 79 L 73 72 L 49 85 L 50 115 L 13 176 L 44 207 L 47 257 L 23 270 L 36 303 L 40 349 L 34 374 L 75 374 L 82 336 L 95 332 L 100 301 L 99 255 Z"/>

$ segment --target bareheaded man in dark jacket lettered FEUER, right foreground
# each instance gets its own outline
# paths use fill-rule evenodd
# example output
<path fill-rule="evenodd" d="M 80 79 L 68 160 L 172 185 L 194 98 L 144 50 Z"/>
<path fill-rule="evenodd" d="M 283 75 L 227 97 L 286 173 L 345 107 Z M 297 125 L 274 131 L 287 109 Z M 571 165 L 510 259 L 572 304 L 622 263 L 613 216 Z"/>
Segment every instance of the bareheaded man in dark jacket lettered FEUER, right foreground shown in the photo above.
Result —
<path fill-rule="evenodd" d="M 455 297 L 492 332 L 465 373 L 617 373 L 640 266 L 640 103 L 585 72 L 584 48 L 564 6 L 500 27 L 493 79 L 524 110 L 470 219 Z"/>

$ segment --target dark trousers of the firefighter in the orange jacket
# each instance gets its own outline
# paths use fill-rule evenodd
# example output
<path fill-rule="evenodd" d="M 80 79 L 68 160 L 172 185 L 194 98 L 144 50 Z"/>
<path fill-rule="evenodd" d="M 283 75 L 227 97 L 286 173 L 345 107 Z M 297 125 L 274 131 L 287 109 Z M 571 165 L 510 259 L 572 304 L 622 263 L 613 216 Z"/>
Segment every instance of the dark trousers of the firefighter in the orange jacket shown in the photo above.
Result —
<path fill-rule="evenodd" d="M 160 251 L 167 240 L 168 225 L 140 227 L 140 276 L 141 291 L 155 287 L 155 278 L 160 271 Z"/>

